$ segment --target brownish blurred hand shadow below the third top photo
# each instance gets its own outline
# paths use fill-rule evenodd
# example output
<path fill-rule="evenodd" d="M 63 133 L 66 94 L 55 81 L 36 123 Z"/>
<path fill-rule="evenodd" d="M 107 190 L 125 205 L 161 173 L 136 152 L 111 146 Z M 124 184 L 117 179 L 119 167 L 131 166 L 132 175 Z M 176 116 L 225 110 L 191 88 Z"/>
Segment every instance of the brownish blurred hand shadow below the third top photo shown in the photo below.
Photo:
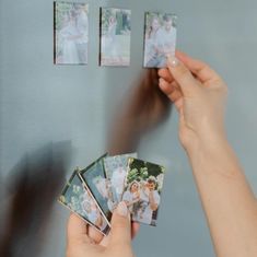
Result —
<path fill-rule="evenodd" d="M 132 87 L 132 90 L 131 90 Z M 171 101 L 159 89 L 157 69 L 145 69 L 131 85 L 121 109 L 114 115 L 107 143 L 110 155 L 137 150 L 140 138 L 163 124 L 171 113 Z"/>

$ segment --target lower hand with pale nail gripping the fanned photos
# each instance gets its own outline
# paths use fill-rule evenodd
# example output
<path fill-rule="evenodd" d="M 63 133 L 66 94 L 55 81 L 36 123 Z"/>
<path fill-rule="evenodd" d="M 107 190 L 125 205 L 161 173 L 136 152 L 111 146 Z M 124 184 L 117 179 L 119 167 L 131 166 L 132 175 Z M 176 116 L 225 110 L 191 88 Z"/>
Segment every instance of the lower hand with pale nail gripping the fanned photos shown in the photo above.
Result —
<path fill-rule="evenodd" d="M 131 236 L 139 230 L 138 223 L 130 222 L 125 202 L 120 202 L 112 218 L 112 231 L 103 237 L 93 227 L 71 214 L 68 222 L 67 257 L 135 257 Z"/>

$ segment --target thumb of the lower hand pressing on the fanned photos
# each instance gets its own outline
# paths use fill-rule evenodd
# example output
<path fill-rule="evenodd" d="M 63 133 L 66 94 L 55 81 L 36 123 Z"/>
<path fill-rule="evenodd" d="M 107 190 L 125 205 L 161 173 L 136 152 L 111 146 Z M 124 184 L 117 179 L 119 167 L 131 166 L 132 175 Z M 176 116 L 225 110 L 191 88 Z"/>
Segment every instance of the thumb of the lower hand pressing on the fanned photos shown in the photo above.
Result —
<path fill-rule="evenodd" d="M 128 247 L 131 243 L 130 213 L 125 201 L 119 202 L 112 218 L 110 245 Z"/>

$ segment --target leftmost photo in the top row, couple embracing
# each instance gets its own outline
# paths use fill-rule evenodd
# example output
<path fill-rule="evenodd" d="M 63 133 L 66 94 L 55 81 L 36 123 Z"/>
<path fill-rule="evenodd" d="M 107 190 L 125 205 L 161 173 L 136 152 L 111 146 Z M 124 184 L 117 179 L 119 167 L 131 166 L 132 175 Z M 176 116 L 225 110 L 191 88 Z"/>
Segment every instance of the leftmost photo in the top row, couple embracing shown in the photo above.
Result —
<path fill-rule="evenodd" d="M 89 4 L 55 2 L 56 65 L 87 65 Z"/>

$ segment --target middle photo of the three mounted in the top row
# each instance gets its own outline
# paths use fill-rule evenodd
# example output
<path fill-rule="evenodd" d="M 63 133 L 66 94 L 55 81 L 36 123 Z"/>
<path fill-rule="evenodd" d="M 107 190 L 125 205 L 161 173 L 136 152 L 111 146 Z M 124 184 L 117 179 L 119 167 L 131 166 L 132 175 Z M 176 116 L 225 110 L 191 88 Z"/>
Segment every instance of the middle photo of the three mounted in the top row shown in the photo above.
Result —
<path fill-rule="evenodd" d="M 101 66 L 130 65 L 131 11 L 101 9 Z"/>

